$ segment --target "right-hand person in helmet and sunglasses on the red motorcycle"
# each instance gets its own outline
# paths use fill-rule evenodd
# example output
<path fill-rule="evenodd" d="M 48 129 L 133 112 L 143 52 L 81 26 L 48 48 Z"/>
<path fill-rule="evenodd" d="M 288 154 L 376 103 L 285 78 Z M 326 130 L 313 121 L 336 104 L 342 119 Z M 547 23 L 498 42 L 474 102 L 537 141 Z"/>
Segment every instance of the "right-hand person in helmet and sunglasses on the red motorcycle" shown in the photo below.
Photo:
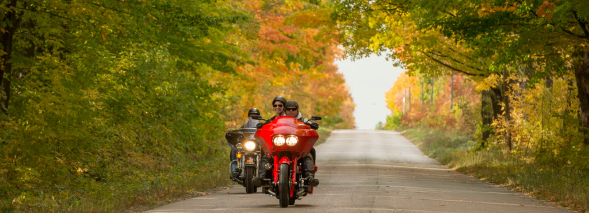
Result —
<path fill-rule="evenodd" d="M 309 123 L 309 119 L 305 119 L 303 117 L 299 111 L 299 104 L 294 100 L 286 102 L 286 116 L 296 117 L 296 119 L 299 119 L 303 123 L 311 126 L 311 128 L 314 130 L 319 129 L 319 124 L 314 122 Z M 307 155 L 305 158 L 303 158 L 303 178 L 307 178 L 309 185 L 316 187 L 319 185 L 319 180 L 315 179 L 315 147 L 311 148 L 310 154 L 311 155 Z"/>

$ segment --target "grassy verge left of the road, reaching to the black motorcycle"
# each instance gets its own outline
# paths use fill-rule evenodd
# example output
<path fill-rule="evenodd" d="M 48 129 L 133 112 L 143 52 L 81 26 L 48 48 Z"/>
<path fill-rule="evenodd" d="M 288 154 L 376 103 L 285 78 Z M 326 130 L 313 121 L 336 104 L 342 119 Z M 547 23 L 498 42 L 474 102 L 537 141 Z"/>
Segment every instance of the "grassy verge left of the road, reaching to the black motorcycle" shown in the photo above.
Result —
<path fill-rule="evenodd" d="M 160 173 L 129 174 L 125 178 L 89 184 L 80 190 L 62 187 L 38 194 L 23 194 L 4 202 L 1 212 L 121 212 L 145 211 L 158 205 L 206 194 L 226 186 L 227 159 L 181 163 Z M 72 183 L 75 184 L 75 183 Z M 8 204 L 8 205 L 6 205 Z"/>

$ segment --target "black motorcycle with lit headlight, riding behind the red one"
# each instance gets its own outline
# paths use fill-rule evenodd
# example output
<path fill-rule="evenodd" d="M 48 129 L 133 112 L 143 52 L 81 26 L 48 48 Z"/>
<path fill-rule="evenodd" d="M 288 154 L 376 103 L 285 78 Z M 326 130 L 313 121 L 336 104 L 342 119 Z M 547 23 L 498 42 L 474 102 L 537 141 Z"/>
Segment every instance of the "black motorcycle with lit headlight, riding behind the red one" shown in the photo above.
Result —
<path fill-rule="evenodd" d="M 246 187 L 248 194 L 257 191 L 252 184 L 252 179 L 257 177 L 258 162 L 262 157 L 262 148 L 254 138 L 256 124 L 259 122 L 259 120 L 248 119 L 239 129 L 229 130 L 225 134 L 227 142 L 237 148 L 237 159 L 229 164 L 230 178 Z M 232 171 L 231 165 L 237 165 L 237 169 Z"/>

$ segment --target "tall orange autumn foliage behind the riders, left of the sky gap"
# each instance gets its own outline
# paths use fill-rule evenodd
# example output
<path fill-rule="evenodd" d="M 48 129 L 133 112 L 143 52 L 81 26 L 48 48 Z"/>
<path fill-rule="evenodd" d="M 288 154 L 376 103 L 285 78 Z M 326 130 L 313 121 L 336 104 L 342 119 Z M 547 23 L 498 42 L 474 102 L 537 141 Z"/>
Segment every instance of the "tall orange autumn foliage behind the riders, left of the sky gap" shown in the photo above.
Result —
<path fill-rule="evenodd" d="M 322 126 L 353 128 L 355 105 L 333 65 L 341 50 L 336 29 L 327 21 L 329 12 L 304 1 L 243 4 L 255 14 L 256 25 L 250 30 L 256 31 L 250 33 L 256 39 L 239 43 L 253 63 L 239 66 L 237 75 L 213 76 L 231 85 L 226 92 L 235 100 L 226 109 L 230 120 L 243 119 L 251 107 L 260 109 L 263 117 L 273 116 L 271 100 L 284 96 L 299 103 L 303 116 L 322 116 Z"/>

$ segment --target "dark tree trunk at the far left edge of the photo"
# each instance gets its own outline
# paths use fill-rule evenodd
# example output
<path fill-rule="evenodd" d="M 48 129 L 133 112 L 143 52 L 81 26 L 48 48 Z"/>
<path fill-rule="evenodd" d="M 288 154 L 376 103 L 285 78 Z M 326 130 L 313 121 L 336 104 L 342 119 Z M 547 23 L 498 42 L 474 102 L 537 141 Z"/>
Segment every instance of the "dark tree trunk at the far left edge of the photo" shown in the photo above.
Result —
<path fill-rule="evenodd" d="M 14 8 L 16 6 L 16 0 L 12 0 L 8 8 Z M 0 111 L 2 114 L 8 116 L 8 103 L 10 101 L 10 80 L 12 75 L 12 40 L 14 39 L 14 33 L 18 28 L 19 19 L 16 17 L 16 10 L 10 10 L 5 13 L 2 22 L 7 22 L 4 32 L 0 32 L 0 38 L 2 38 L 2 50 L 5 54 L 2 55 L 2 68 L 0 68 L 0 85 L 3 93 L 0 95 Z"/>

